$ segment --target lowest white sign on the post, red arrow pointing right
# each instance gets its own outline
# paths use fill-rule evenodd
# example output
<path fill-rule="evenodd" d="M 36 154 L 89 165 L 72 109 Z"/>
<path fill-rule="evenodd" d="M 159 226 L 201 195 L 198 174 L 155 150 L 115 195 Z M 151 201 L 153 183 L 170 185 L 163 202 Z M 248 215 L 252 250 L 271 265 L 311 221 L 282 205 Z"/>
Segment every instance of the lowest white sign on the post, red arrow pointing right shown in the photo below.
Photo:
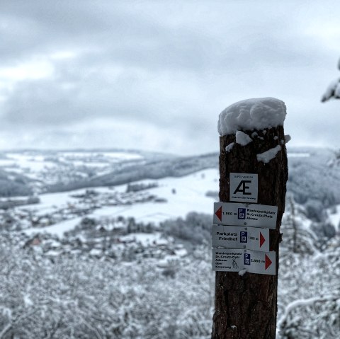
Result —
<path fill-rule="evenodd" d="M 212 270 L 224 272 L 246 272 L 276 275 L 274 251 L 258 252 L 229 248 L 212 248 Z"/>

